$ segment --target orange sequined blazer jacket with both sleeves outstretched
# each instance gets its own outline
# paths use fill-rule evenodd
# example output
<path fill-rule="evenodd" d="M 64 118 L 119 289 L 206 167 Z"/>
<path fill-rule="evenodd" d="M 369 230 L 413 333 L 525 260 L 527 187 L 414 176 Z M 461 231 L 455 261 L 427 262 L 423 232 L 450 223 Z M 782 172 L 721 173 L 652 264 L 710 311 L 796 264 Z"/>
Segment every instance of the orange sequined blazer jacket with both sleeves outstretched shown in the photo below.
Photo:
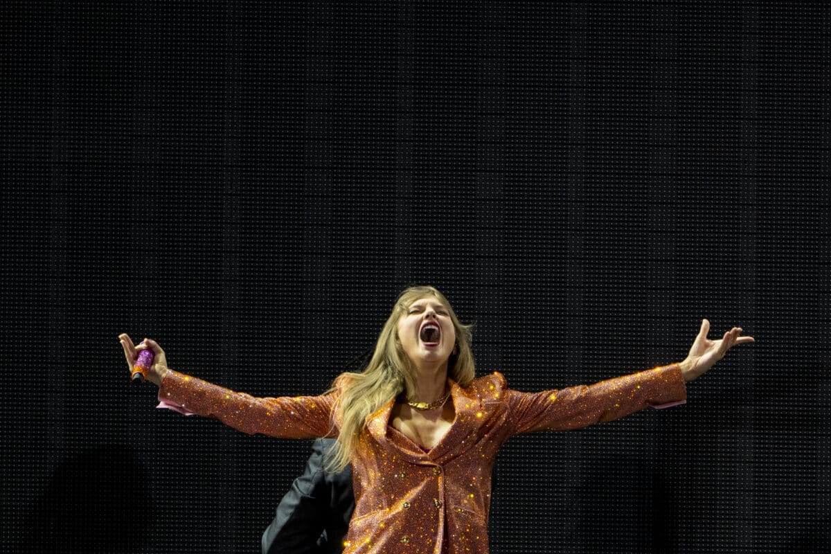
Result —
<path fill-rule="evenodd" d="M 352 460 L 356 506 L 344 552 L 486 554 L 491 469 L 511 435 L 576 429 L 686 400 L 677 364 L 538 393 L 508 389 L 499 373 L 466 388 L 450 385 L 455 420 L 429 452 L 388 424 L 394 399 L 367 420 Z M 337 394 L 254 398 L 170 370 L 159 400 L 245 433 L 302 439 L 337 436 Z"/>

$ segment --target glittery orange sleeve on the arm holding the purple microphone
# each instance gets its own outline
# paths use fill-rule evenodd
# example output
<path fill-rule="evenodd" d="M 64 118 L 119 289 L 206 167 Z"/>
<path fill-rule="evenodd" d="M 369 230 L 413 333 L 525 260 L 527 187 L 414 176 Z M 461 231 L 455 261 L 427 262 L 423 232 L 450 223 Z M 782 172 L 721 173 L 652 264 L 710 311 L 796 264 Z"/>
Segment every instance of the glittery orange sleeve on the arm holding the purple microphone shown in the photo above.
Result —
<path fill-rule="evenodd" d="M 243 433 L 312 439 L 337 436 L 332 423 L 336 395 L 256 398 L 168 370 L 159 388 L 159 407 L 219 419 Z"/>

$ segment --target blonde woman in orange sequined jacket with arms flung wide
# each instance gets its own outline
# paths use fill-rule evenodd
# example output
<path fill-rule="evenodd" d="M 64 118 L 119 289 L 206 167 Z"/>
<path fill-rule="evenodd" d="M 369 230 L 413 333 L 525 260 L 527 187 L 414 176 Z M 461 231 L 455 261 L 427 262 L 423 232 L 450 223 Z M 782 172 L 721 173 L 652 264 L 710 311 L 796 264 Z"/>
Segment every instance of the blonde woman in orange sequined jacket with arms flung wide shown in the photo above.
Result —
<path fill-rule="evenodd" d="M 329 468 L 352 464 L 355 511 L 344 552 L 488 552 L 490 476 L 510 436 L 576 429 L 639 409 L 682 404 L 696 379 L 732 346 L 752 342 L 734 327 L 686 360 L 590 386 L 523 393 L 499 373 L 475 378 L 470 328 L 434 287 L 401 293 L 361 373 L 344 373 L 319 396 L 254 398 L 170 370 L 154 341 L 120 336 L 128 365 L 155 354 L 149 379 L 160 406 L 222 420 L 245 433 L 337 437 Z"/>

